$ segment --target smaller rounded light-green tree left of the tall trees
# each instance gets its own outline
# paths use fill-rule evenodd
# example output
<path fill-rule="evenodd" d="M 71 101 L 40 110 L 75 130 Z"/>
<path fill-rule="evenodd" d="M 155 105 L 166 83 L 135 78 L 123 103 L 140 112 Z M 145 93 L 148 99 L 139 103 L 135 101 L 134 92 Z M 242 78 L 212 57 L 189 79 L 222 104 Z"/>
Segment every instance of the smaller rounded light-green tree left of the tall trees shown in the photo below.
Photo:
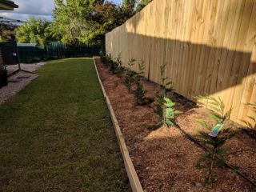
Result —
<path fill-rule="evenodd" d="M 54 41 L 50 31 L 49 23 L 45 19 L 30 17 L 16 31 L 18 42 L 36 43 L 39 46 Z"/>

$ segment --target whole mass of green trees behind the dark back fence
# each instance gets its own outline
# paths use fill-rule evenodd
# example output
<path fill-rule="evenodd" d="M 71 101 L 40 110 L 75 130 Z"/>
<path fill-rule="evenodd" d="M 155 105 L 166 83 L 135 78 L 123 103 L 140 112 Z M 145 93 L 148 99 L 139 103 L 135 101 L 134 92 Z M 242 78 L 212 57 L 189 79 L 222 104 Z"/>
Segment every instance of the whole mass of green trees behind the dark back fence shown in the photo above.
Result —
<path fill-rule="evenodd" d="M 54 0 L 54 20 L 30 18 L 17 30 L 18 42 L 44 45 L 52 39 L 67 44 L 104 45 L 105 34 L 132 17 L 151 0 Z"/>

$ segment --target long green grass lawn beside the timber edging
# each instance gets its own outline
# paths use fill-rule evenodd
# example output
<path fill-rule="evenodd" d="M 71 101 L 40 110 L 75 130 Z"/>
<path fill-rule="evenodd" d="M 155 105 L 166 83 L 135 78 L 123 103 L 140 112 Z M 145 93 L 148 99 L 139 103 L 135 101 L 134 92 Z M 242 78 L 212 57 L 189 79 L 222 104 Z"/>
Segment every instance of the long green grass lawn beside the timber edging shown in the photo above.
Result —
<path fill-rule="evenodd" d="M 130 191 L 93 60 L 37 72 L 0 106 L 0 191 Z"/>

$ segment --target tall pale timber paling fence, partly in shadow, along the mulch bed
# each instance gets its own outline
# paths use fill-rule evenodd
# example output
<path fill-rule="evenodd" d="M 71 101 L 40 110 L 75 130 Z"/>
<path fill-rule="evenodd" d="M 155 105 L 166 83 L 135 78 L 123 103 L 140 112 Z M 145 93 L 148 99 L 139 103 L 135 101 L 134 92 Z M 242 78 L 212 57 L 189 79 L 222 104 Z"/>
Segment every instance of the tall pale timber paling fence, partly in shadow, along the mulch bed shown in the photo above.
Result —
<path fill-rule="evenodd" d="M 255 125 L 256 0 L 154 0 L 106 34 L 106 52 L 142 59 L 158 83 L 166 64 L 178 94 L 218 96 L 234 122 Z"/>

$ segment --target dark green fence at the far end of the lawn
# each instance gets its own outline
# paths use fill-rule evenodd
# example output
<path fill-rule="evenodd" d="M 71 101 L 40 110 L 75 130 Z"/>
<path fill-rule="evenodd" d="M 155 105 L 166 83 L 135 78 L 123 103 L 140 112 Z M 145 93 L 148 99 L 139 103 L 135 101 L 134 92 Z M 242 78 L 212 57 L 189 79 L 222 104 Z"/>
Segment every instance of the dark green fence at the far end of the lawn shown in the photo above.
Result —
<path fill-rule="evenodd" d="M 99 54 L 99 46 L 78 44 L 67 46 L 62 42 L 50 42 L 46 46 L 18 46 L 21 62 L 39 62 L 56 58 L 92 57 Z"/>

